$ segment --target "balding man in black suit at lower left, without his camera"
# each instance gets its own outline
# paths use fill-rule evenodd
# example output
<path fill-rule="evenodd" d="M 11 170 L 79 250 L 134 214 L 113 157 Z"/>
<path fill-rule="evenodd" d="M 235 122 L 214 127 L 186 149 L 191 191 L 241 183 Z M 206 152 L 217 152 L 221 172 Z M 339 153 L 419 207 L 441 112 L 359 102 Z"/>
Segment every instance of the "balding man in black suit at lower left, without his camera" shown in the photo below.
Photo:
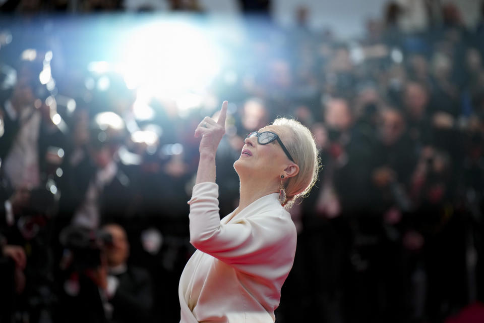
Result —
<path fill-rule="evenodd" d="M 150 275 L 142 268 L 128 265 L 130 246 L 121 226 L 109 224 L 102 232 L 111 237 L 111 242 L 103 243 L 100 264 L 82 264 L 80 259 L 74 259 L 74 271 L 62 286 L 55 321 L 150 322 L 153 303 Z M 81 253 L 76 256 L 81 258 Z"/>

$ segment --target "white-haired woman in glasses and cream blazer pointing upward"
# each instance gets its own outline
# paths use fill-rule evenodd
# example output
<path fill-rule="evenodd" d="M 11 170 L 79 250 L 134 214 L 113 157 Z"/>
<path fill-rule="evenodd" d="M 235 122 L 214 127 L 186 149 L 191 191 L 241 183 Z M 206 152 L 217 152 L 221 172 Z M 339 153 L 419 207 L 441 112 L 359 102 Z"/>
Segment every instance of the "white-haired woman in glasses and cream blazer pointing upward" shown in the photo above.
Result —
<path fill-rule="evenodd" d="M 218 121 L 195 130 L 200 161 L 190 204 L 190 242 L 198 250 L 180 277 L 182 323 L 274 322 L 281 287 L 291 270 L 296 229 L 286 210 L 309 193 L 319 168 L 308 128 L 276 119 L 251 132 L 233 167 L 238 207 L 220 220 L 215 154 L 225 133 L 227 101 Z"/>

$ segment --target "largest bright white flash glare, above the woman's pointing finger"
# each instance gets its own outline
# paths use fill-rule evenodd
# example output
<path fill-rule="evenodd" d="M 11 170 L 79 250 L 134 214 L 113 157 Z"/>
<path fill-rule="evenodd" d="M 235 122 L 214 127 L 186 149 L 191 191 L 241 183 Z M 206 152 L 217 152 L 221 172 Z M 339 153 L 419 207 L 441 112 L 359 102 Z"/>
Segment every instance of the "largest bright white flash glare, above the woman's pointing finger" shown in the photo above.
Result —
<path fill-rule="evenodd" d="M 203 90 L 220 70 L 221 58 L 213 41 L 187 22 L 149 24 L 127 44 L 122 59 L 125 82 L 152 95 Z"/>

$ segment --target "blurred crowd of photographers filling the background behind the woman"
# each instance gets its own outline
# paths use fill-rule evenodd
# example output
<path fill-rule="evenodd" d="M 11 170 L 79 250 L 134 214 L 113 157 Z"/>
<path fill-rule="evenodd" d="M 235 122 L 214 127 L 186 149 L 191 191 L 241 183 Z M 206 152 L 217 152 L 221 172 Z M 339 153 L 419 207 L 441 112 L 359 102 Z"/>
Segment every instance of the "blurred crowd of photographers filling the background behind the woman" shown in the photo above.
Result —
<path fill-rule="evenodd" d="M 244 59 L 189 110 L 70 65 L 72 43 L 39 40 L 46 28 L 0 21 L 0 322 L 177 321 L 193 134 L 223 99 L 221 216 L 237 206 L 247 133 L 292 116 L 320 149 L 319 181 L 290 210 L 298 244 L 278 322 L 482 310 L 484 4 L 472 29 L 447 5 L 439 24 L 404 33 L 390 3 L 345 41 L 308 28 L 309 14 L 290 29 L 251 21 L 260 28 L 226 44 Z"/>

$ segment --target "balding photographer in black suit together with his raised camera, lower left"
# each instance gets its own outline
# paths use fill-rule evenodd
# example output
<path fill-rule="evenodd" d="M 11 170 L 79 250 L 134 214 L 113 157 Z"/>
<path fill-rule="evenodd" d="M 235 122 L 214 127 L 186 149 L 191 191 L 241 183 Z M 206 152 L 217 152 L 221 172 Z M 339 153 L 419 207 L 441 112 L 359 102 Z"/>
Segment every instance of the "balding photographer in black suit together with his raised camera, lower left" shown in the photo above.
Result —
<path fill-rule="evenodd" d="M 70 227 L 61 240 L 67 248 L 61 264 L 67 279 L 56 321 L 150 321 L 151 278 L 127 264 L 130 246 L 122 227 L 109 224 L 97 232 Z"/>

